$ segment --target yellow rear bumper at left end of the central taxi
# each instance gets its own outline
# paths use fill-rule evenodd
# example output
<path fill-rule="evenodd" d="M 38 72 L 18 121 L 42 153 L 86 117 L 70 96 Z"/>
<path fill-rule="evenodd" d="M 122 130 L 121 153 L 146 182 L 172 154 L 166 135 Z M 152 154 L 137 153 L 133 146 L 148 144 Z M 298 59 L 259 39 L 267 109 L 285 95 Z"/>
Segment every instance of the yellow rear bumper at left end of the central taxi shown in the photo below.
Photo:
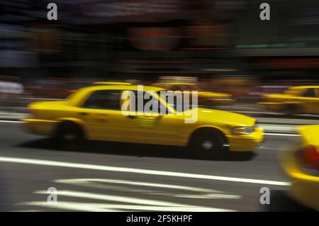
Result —
<path fill-rule="evenodd" d="M 40 119 L 23 119 L 23 130 L 36 135 L 51 136 L 55 131 L 57 121 Z"/>

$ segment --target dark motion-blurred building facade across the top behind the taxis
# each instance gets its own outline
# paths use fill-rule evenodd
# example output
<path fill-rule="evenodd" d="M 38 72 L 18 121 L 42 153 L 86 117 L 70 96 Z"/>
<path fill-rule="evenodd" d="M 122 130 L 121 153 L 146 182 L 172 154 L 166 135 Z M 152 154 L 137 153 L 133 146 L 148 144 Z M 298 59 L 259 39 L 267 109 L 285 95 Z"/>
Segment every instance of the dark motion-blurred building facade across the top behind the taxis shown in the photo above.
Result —
<path fill-rule="evenodd" d="M 154 80 L 318 77 L 317 1 L 55 0 L 0 3 L 1 74 Z"/>

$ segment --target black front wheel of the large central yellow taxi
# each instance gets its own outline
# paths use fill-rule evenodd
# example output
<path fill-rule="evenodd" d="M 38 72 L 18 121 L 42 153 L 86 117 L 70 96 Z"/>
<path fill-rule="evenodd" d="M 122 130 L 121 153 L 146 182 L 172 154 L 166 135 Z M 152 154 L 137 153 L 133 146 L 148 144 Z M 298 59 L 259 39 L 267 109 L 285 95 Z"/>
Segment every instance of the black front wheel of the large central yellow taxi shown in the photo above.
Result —
<path fill-rule="evenodd" d="M 200 130 L 191 137 L 189 151 L 196 157 L 211 159 L 222 157 L 228 152 L 225 136 L 217 130 Z"/>

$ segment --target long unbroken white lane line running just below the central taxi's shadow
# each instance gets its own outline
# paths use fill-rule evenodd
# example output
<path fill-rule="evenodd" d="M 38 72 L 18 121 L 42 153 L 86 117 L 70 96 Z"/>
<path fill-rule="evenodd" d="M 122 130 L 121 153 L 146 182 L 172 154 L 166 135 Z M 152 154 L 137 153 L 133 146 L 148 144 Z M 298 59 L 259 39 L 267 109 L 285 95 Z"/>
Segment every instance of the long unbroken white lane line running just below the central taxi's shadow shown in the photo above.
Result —
<path fill-rule="evenodd" d="M 290 186 L 291 185 L 291 183 L 284 182 L 284 181 L 267 181 L 267 180 L 260 180 L 260 179 L 247 179 L 247 178 L 237 178 L 237 177 L 229 177 L 229 176 L 214 176 L 214 175 L 206 175 L 206 174 L 191 174 L 191 173 L 181 173 L 181 172 L 174 172 L 174 171 L 159 171 L 159 170 L 151 170 L 151 169 L 135 169 L 135 168 L 118 167 L 118 166 L 81 164 L 81 163 L 74 163 L 74 162 L 57 162 L 57 161 L 43 160 L 43 159 L 0 157 L 0 162 L 34 164 L 34 165 L 42 165 L 42 166 L 58 166 L 58 167 L 67 167 L 67 168 L 74 168 L 74 169 L 115 171 L 115 172 L 123 172 L 123 173 L 130 173 L 130 174 L 175 176 L 175 177 L 182 177 L 182 178 L 207 179 L 207 180 L 215 180 L 215 181 L 258 183 L 258 184 L 278 185 L 278 186 Z"/>

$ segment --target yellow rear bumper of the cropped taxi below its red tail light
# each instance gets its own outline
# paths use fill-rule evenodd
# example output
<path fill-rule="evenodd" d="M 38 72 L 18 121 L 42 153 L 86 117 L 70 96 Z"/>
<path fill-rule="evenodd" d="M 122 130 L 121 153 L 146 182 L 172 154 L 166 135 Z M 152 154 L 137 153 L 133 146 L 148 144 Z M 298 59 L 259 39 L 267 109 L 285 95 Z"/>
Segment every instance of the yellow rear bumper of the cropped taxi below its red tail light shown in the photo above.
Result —
<path fill-rule="evenodd" d="M 280 154 L 281 166 L 292 182 L 290 196 L 303 205 L 319 211 L 319 176 L 309 175 L 301 170 L 294 149 L 284 149 Z"/>

